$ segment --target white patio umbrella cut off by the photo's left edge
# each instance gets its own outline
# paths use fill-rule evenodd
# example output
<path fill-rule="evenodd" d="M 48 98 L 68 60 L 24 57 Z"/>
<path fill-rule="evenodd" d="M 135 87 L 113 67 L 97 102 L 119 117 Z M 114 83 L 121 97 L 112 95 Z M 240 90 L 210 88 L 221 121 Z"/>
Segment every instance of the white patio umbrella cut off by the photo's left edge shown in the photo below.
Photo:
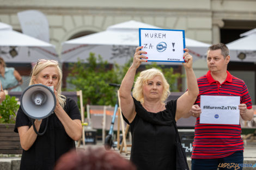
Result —
<path fill-rule="evenodd" d="M 0 56 L 5 62 L 36 62 L 38 59 L 58 60 L 50 43 L 16 32 L 0 22 Z"/>

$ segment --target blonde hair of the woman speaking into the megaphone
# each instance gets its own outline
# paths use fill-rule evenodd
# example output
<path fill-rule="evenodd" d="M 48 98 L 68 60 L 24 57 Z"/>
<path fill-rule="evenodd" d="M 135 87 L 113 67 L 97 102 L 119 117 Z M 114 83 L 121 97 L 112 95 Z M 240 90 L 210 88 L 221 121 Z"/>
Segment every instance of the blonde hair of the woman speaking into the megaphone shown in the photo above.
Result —
<path fill-rule="evenodd" d="M 38 77 L 38 74 L 44 70 L 46 67 L 56 67 L 58 70 L 58 85 L 56 87 L 56 91 L 58 93 L 58 100 L 59 100 L 59 104 L 62 106 L 62 108 L 64 108 L 64 105 L 66 104 L 66 97 L 61 95 L 62 93 L 62 70 L 60 70 L 59 65 L 55 62 L 52 62 L 50 60 L 45 61 L 45 62 L 38 62 L 38 64 L 36 64 L 36 66 L 33 68 L 32 72 L 31 72 L 31 80 L 29 82 L 29 86 L 35 84 L 34 83 L 34 78 L 36 79 Z"/>

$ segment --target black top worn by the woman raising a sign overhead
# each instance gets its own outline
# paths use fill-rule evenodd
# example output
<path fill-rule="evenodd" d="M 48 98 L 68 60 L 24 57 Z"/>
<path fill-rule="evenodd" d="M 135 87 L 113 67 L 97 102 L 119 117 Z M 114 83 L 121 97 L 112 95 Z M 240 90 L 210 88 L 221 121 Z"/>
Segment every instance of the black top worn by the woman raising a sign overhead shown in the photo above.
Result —
<path fill-rule="evenodd" d="M 135 98 L 136 116 L 130 124 L 132 148 L 130 160 L 138 170 L 175 169 L 175 117 L 176 102 L 166 104 L 166 110 L 153 113 L 145 110 Z M 172 114 L 172 115 L 170 115 Z"/>

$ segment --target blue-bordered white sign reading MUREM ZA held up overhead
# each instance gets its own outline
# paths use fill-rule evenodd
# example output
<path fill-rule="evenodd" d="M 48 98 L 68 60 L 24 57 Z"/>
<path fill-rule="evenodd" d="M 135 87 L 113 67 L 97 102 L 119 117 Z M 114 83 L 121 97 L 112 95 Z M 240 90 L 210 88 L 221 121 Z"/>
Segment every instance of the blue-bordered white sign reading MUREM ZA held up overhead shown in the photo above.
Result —
<path fill-rule="evenodd" d="M 184 30 L 139 28 L 139 46 L 148 61 L 184 62 Z"/>

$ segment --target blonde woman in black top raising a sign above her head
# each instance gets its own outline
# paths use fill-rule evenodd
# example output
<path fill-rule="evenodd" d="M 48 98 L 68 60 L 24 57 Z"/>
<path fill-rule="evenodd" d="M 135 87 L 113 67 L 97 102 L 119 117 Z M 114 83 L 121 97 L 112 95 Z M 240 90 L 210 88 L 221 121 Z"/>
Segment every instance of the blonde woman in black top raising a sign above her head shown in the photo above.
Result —
<path fill-rule="evenodd" d="M 141 72 L 131 96 L 136 70 L 141 62 L 147 62 L 147 57 L 143 55 L 147 52 L 142 48 L 136 48 L 133 63 L 119 89 L 123 117 L 131 126 L 130 159 L 138 169 L 175 169 L 174 123 L 190 110 L 199 92 L 192 69 L 192 56 L 188 49 L 184 49 L 183 66 L 188 90 L 178 99 L 164 103 L 170 94 L 169 84 L 156 68 Z"/>

